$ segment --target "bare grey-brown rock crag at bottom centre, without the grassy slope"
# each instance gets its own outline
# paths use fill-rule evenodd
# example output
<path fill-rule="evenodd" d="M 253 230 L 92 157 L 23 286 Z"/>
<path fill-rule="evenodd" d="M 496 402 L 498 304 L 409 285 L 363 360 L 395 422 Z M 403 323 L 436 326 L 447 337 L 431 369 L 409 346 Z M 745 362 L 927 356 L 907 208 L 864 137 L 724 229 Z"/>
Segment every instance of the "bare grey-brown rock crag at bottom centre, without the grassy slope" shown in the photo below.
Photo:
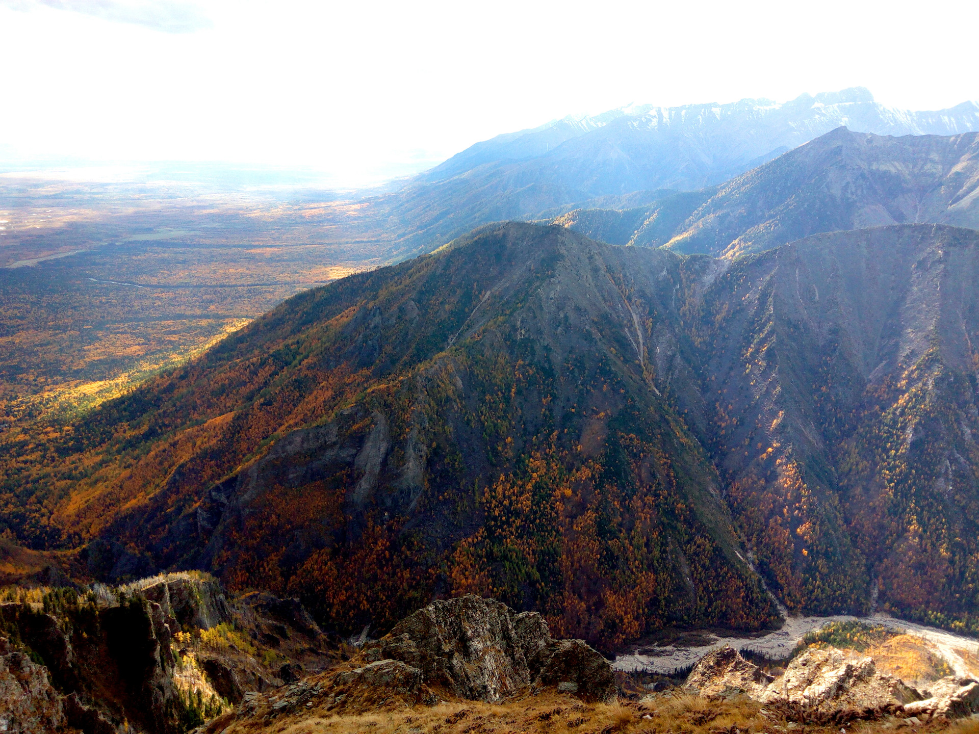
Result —
<path fill-rule="evenodd" d="M 498 701 L 532 683 L 602 701 L 615 690 L 611 666 L 582 640 L 555 641 L 540 615 L 517 615 L 472 594 L 402 619 L 363 656 L 410 665 L 428 685 L 475 701 Z"/>

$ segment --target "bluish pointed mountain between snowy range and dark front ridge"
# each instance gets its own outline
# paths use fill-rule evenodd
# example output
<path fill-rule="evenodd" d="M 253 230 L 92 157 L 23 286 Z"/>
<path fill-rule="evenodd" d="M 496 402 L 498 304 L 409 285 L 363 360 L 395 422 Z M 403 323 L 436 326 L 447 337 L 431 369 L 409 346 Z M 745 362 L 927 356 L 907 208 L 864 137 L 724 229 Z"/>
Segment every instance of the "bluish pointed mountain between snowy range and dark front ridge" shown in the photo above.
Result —
<path fill-rule="evenodd" d="M 979 133 L 833 130 L 718 189 L 552 220 L 615 245 L 731 257 L 818 232 L 933 222 L 979 227 Z"/>

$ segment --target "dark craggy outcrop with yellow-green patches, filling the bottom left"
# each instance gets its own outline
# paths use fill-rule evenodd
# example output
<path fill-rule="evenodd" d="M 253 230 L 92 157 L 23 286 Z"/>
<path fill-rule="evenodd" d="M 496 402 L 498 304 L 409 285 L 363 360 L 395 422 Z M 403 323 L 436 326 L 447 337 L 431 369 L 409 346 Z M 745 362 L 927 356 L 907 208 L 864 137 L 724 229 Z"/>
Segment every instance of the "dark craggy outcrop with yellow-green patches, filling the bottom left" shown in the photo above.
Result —
<path fill-rule="evenodd" d="M 250 596 L 229 604 L 207 574 L 173 573 L 0 604 L 11 640 L 0 650 L 0 731 L 6 720 L 19 732 L 112 734 L 127 724 L 178 734 L 248 692 L 335 664 L 339 654 L 297 600 Z M 260 638 L 272 631 L 270 655 Z"/>

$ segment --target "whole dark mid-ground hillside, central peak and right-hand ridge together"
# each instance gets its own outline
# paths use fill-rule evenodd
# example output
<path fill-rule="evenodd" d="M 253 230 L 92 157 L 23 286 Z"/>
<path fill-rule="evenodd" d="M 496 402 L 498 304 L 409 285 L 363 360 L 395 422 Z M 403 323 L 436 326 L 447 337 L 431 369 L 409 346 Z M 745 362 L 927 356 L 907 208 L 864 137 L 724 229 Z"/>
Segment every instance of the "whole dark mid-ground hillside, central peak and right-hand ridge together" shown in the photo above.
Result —
<path fill-rule="evenodd" d="M 714 259 L 498 224 L 292 298 L 3 445 L 3 518 L 81 573 L 219 573 L 350 632 L 433 596 L 615 645 L 774 610 L 979 629 L 979 233 Z"/>

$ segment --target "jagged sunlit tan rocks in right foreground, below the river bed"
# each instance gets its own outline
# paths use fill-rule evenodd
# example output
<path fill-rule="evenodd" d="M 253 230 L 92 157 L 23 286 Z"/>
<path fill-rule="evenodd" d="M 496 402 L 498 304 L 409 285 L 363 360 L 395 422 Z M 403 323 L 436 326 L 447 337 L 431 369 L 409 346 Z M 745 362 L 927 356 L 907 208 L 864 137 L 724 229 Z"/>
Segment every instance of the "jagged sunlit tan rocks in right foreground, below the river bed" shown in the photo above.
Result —
<path fill-rule="evenodd" d="M 902 707 L 921 697 L 900 679 L 877 670 L 873 659 L 835 648 L 807 650 L 772 678 L 725 647 L 698 663 L 685 687 L 704 696 L 743 692 L 763 703 L 816 711 Z"/>

